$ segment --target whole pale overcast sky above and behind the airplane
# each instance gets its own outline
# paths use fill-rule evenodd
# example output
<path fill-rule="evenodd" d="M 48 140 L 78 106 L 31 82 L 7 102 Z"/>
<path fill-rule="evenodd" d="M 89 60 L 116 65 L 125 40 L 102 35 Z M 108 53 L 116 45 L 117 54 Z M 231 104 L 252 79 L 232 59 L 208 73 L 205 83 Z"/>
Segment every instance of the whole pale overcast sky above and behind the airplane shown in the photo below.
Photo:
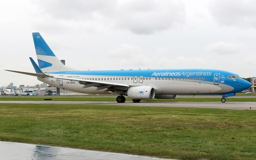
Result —
<path fill-rule="evenodd" d="M 33 32 L 79 70 L 204 68 L 256 76 L 256 1 L 0 2 L 0 86 L 41 84 Z"/>

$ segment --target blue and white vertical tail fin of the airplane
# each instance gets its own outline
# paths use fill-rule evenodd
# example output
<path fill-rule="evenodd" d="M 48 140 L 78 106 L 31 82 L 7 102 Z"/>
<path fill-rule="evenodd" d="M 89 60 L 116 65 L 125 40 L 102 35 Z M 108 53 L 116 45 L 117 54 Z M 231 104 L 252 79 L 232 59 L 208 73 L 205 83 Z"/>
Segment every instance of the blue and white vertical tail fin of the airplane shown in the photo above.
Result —
<path fill-rule="evenodd" d="M 43 73 L 76 70 L 63 65 L 39 33 L 33 33 L 32 35 L 34 39 L 38 65 Z"/>

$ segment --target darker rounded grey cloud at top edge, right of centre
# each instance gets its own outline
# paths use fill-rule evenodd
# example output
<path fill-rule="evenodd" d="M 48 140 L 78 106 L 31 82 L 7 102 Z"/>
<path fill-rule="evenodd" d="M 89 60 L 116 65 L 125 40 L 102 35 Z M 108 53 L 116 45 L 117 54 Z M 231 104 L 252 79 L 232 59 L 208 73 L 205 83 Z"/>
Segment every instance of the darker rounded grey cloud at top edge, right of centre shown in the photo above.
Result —
<path fill-rule="evenodd" d="M 176 1 L 129 1 L 118 6 L 112 17 L 117 28 L 150 35 L 183 23 L 185 6 Z"/>

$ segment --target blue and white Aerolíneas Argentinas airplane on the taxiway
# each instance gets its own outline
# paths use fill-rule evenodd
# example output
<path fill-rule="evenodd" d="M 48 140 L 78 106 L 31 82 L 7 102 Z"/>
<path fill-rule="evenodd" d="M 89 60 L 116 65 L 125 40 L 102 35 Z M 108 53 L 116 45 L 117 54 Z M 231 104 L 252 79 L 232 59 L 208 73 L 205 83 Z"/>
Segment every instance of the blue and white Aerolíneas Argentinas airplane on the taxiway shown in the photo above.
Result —
<path fill-rule="evenodd" d="M 63 65 L 39 33 L 33 33 L 37 61 L 29 57 L 36 73 L 6 70 L 35 76 L 64 90 L 90 94 L 118 94 L 116 101 L 175 99 L 178 94 L 209 94 L 226 97 L 251 87 L 237 74 L 216 69 L 77 70 Z"/>

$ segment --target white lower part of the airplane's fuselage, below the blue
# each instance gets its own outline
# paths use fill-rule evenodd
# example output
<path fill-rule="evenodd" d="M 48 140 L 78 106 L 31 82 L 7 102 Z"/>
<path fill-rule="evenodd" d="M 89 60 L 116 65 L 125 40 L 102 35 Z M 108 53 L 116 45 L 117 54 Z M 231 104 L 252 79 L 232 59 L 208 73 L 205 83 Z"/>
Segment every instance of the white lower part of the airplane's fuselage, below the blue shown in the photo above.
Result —
<path fill-rule="evenodd" d="M 60 76 L 60 75 L 54 75 Z M 74 75 L 61 75 L 63 77 L 74 77 Z M 88 79 L 95 81 L 104 81 L 111 83 L 128 84 L 130 86 L 152 86 L 156 94 L 217 94 L 233 90 L 234 88 L 225 85 L 214 85 L 213 82 L 195 80 L 195 79 L 179 79 L 179 78 L 155 78 L 155 77 L 129 77 L 129 76 L 95 76 L 95 75 L 76 75 L 76 79 Z M 77 81 L 68 81 L 65 79 L 57 79 L 50 77 L 38 77 L 39 81 L 45 82 L 61 89 L 90 94 L 106 94 L 105 90 L 97 90 L 97 87 L 82 88 L 84 84 Z M 107 92 L 111 93 L 111 92 Z"/>

